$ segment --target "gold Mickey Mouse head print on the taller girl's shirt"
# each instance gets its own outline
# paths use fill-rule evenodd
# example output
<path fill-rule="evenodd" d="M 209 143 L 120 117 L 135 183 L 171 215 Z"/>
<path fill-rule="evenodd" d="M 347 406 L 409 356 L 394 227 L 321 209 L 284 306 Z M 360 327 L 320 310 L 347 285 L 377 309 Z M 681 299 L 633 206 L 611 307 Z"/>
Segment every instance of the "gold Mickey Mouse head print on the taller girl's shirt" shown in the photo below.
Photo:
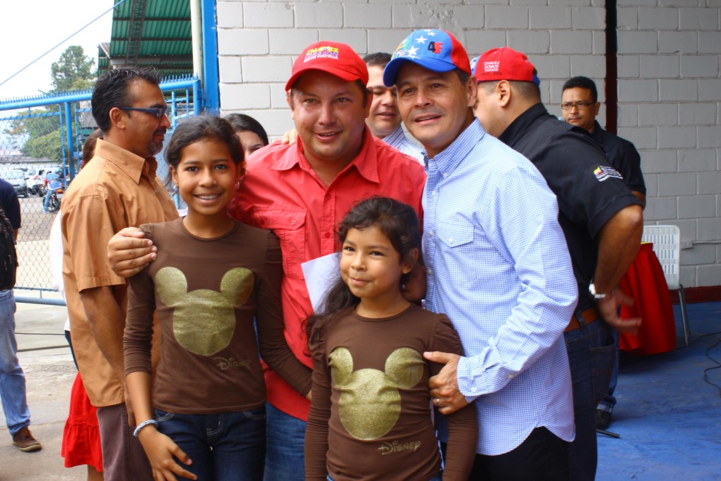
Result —
<path fill-rule="evenodd" d="M 253 273 L 233 268 L 225 273 L 221 290 L 187 291 L 182 270 L 162 268 L 155 275 L 160 300 L 173 308 L 173 334 L 191 353 L 211 356 L 228 347 L 235 332 L 235 311 L 253 291 Z"/>

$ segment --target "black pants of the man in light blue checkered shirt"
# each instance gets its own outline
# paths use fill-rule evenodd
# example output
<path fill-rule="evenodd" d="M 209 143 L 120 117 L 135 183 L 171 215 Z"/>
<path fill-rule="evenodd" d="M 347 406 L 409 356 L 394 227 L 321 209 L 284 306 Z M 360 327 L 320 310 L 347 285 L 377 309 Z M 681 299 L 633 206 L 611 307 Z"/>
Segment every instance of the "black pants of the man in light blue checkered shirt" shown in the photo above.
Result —
<path fill-rule="evenodd" d="M 546 428 L 531 431 L 516 449 L 476 454 L 469 481 L 568 481 L 568 443 Z"/>

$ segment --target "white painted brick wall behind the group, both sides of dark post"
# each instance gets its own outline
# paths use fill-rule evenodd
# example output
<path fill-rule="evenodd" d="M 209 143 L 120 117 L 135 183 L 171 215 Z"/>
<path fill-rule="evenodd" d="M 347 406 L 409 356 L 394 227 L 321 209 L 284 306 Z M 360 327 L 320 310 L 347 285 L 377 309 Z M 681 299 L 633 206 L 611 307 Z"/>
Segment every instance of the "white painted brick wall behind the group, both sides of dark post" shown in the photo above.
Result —
<path fill-rule="evenodd" d="M 273 138 L 293 125 L 283 86 L 306 45 L 392 52 L 423 27 L 453 32 L 471 56 L 503 45 L 528 53 L 554 115 L 570 76 L 594 79 L 605 100 L 600 0 L 218 0 L 217 9 L 221 112 L 247 112 Z M 641 152 L 645 220 L 704 242 L 721 239 L 720 10 L 719 0 L 619 0 L 617 9 L 619 135 Z M 685 286 L 721 284 L 721 246 L 694 244 L 681 263 Z"/>

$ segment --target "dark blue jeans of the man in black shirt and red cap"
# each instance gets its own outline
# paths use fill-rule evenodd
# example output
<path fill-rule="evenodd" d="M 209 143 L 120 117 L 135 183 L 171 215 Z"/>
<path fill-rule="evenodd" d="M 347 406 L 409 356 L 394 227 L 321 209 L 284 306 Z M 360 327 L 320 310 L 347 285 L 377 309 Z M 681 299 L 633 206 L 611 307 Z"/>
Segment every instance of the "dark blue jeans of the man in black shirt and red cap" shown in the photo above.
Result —
<path fill-rule="evenodd" d="M 611 327 L 597 319 L 564 334 L 573 382 L 573 410 L 576 437 L 569 446 L 570 479 L 593 481 L 596 477 L 596 406 L 609 391 L 614 366 L 614 340 Z"/>

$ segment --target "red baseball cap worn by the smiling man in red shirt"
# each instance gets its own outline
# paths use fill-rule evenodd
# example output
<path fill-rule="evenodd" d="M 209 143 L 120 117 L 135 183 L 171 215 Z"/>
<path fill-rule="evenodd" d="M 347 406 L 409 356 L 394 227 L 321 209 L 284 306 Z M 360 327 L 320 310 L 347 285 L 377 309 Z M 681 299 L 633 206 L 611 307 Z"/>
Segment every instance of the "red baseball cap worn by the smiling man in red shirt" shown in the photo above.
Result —
<path fill-rule="evenodd" d="M 345 43 L 321 40 L 308 45 L 293 62 L 291 78 L 286 82 L 286 92 L 293 87 L 299 76 L 309 70 L 322 70 L 343 80 L 361 80 L 363 85 L 368 84 L 366 63 Z"/>

